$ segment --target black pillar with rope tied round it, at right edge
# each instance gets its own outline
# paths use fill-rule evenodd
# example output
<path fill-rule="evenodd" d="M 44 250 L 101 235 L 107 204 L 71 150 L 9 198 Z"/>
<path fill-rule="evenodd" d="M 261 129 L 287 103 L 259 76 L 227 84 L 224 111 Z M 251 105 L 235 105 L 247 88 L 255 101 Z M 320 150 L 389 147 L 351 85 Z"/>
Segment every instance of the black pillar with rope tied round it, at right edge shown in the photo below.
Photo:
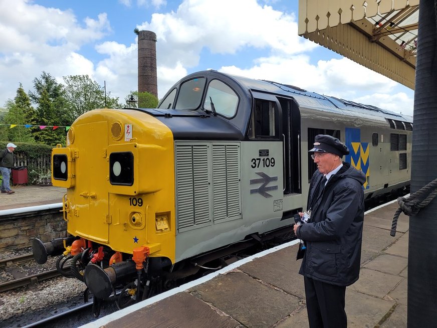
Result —
<path fill-rule="evenodd" d="M 437 178 L 437 0 L 420 0 L 411 194 Z M 409 221 L 408 328 L 437 324 L 437 198 Z"/>

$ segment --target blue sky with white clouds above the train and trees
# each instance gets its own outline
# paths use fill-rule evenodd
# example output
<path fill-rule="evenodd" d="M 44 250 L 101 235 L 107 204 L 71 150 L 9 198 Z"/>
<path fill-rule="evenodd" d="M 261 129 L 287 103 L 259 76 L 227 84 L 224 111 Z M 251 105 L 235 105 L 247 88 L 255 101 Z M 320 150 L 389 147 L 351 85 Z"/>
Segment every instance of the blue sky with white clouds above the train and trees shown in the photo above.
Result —
<path fill-rule="evenodd" d="M 297 33 L 297 0 L 0 0 L 0 107 L 43 71 L 88 74 L 124 103 L 135 28 L 156 33 L 158 98 L 214 69 L 412 115 L 413 90 Z"/>

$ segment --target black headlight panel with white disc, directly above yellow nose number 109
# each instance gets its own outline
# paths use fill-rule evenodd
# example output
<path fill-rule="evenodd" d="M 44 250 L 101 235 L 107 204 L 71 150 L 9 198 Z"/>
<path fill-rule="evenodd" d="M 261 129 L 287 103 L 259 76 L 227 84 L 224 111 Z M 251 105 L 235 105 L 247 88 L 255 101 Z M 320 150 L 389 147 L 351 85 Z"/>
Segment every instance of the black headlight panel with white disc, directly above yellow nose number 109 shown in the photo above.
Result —
<path fill-rule="evenodd" d="M 132 186 L 133 176 L 132 152 L 123 151 L 109 154 L 109 182 L 111 185 Z"/>

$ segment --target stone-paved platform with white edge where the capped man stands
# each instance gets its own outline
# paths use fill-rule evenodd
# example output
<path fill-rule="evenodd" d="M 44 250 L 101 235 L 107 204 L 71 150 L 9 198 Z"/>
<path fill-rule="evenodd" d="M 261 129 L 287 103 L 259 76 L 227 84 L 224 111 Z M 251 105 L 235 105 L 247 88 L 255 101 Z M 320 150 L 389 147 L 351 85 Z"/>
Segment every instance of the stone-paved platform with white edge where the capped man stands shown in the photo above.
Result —
<path fill-rule="evenodd" d="M 397 203 L 366 212 L 360 278 L 346 288 L 348 327 L 406 327 L 408 220 Z M 114 312 L 91 327 L 307 327 L 297 242 L 238 261 L 199 280 Z"/>

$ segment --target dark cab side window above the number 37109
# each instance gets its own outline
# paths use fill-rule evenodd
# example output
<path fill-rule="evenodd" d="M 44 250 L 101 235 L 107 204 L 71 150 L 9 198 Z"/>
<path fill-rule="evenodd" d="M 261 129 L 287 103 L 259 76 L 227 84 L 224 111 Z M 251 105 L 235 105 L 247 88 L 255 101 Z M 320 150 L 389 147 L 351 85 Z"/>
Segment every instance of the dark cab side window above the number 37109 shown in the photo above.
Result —
<path fill-rule="evenodd" d="M 249 137 L 265 138 L 275 137 L 276 132 L 276 106 L 275 102 L 264 99 L 255 99 L 249 126 Z"/>

